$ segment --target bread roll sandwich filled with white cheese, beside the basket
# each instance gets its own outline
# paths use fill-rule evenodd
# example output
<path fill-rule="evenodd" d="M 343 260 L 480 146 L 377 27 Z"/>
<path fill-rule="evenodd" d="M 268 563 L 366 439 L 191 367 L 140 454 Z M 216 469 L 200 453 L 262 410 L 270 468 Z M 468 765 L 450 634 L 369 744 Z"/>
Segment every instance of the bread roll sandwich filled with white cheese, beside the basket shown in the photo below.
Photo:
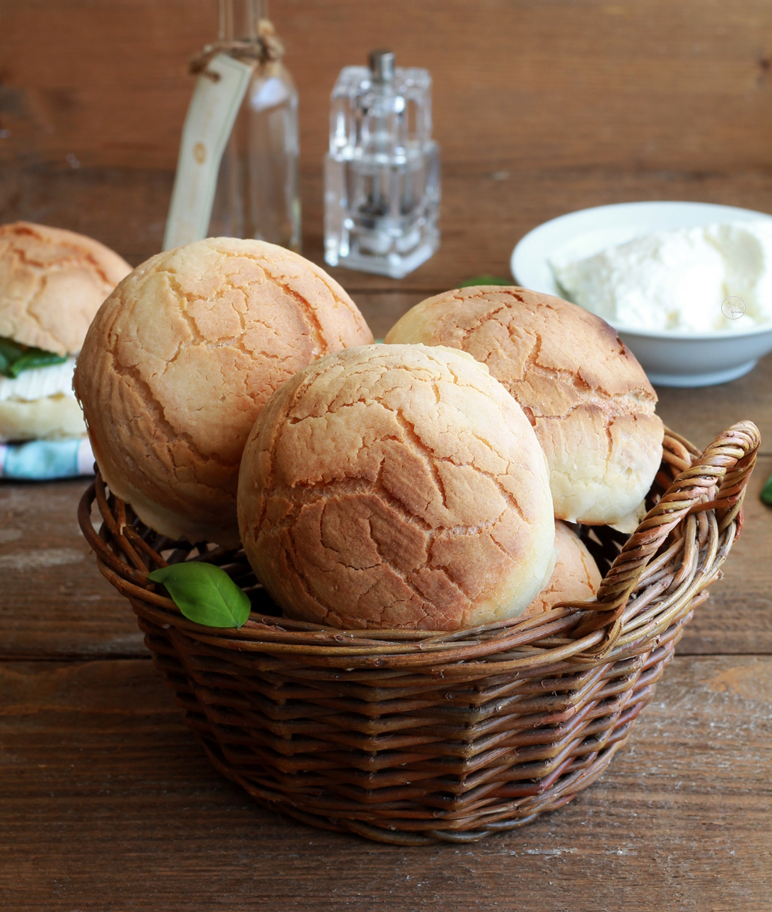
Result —
<path fill-rule="evenodd" d="M 42 349 L 63 363 L 2 374 L 0 442 L 86 433 L 72 391 L 75 356 L 102 301 L 131 271 L 104 244 L 29 222 L 0 226 L 0 352 Z M 49 359 L 56 360 L 56 358 Z"/>

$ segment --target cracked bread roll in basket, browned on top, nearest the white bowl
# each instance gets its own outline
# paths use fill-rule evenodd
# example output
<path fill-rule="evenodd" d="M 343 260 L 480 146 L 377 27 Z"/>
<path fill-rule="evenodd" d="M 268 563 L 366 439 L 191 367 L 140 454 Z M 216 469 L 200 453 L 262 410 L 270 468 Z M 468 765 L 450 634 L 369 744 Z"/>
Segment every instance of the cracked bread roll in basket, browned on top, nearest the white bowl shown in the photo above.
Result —
<path fill-rule="evenodd" d="M 552 295 L 480 285 L 417 304 L 387 343 L 460 348 L 509 389 L 550 466 L 558 519 L 622 522 L 662 459 L 656 394 L 616 331 Z"/>

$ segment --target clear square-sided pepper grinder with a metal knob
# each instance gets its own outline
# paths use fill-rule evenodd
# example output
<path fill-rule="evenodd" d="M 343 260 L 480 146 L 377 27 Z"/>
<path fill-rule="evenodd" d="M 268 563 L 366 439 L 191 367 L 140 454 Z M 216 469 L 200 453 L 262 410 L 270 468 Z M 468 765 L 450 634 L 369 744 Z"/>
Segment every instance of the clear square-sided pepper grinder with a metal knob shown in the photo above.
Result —
<path fill-rule="evenodd" d="M 324 160 L 324 259 L 402 278 L 439 246 L 439 147 L 431 77 L 374 51 L 345 67 L 330 99 Z"/>

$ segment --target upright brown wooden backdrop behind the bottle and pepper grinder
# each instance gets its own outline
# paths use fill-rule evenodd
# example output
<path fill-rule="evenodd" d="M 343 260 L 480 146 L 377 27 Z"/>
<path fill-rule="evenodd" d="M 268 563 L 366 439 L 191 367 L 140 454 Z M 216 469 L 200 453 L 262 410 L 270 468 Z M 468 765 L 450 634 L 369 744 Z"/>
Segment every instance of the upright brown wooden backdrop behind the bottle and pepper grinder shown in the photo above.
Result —
<path fill-rule="evenodd" d="M 5 161 L 173 168 L 213 0 L 8 0 Z M 768 168 L 766 0 L 288 0 L 272 5 L 318 166 L 341 67 L 392 47 L 434 78 L 446 161 L 525 168 Z"/>

